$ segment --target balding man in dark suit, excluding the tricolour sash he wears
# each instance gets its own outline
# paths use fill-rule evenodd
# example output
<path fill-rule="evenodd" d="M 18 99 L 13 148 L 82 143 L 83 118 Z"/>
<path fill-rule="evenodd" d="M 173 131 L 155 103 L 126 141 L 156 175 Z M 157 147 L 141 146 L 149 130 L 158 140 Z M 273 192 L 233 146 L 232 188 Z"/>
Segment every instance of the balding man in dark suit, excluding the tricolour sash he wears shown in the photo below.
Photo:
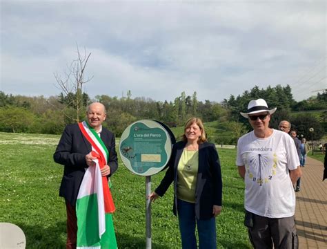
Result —
<path fill-rule="evenodd" d="M 111 131 L 102 127 L 106 120 L 106 108 L 99 102 L 90 104 L 86 111 L 86 122 L 101 138 L 109 152 L 108 165 L 101 169 L 101 175 L 110 177 L 118 167 L 115 149 L 115 136 Z M 65 198 L 67 211 L 67 243 L 66 248 L 76 248 L 77 217 L 75 205 L 79 187 L 87 167 L 95 165 L 96 159 L 91 155 L 92 146 L 83 136 L 78 124 L 69 124 L 59 141 L 53 155 L 54 161 L 64 165 L 59 196 Z"/>

